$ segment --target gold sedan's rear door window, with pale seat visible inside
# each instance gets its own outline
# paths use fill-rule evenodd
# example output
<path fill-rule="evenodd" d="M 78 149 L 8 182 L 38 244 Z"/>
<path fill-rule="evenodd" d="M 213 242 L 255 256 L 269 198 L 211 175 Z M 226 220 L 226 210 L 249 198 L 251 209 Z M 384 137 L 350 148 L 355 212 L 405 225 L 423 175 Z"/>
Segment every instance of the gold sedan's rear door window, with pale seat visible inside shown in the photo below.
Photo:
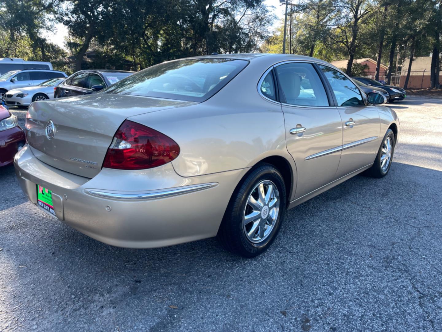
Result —
<path fill-rule="evenodd" d="M 310 63 L 286 63 L 275 70 L 282 90 L 280 98 L 286 104 L 329 106 L 324 85 Z"/>

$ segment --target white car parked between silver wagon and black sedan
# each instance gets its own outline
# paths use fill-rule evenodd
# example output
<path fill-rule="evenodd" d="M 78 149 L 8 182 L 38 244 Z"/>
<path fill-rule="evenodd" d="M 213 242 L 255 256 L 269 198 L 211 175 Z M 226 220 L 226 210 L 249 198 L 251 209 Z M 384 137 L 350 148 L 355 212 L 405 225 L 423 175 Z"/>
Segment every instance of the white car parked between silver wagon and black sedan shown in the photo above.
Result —
<path fill-rule="evenodd" d="M 29 106 L 38 100 L 53 99 L 55 87 L 65 80 L 65 77 L 51 78 L 36 86 L 9 90 L 6 93 L 7 105 Z"/>

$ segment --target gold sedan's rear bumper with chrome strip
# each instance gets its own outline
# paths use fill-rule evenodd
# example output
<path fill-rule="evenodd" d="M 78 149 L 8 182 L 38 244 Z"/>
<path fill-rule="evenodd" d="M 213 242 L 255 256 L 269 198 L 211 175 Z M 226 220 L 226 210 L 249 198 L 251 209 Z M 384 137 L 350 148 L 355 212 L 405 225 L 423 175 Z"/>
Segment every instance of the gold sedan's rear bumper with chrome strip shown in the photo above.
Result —
<path fill-rule="evenodd" d="M 168 163 L 141 171 L 105 168 L 88 179 L 44 164 L 27 146 L 14 164 L 19 184 L 36 208 L 38 184 L 52 191 L 59 220 L 101 242 L 130 248 L 215 236 L 247 171 L 183 178 Z"/>

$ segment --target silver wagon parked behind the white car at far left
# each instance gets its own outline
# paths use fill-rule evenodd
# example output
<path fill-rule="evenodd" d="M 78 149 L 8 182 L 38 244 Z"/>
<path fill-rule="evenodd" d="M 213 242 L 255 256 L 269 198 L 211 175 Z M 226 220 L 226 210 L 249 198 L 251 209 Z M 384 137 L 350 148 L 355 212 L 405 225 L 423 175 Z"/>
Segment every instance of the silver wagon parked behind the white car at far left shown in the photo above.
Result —
<path fill-rule="evenodd" d="M 0 98 L 4 100 L 9 90 L 35 86 L 50 78 L 68 77 L 66 73 L 49 69 L 11 70 L 0 76 Z"/>

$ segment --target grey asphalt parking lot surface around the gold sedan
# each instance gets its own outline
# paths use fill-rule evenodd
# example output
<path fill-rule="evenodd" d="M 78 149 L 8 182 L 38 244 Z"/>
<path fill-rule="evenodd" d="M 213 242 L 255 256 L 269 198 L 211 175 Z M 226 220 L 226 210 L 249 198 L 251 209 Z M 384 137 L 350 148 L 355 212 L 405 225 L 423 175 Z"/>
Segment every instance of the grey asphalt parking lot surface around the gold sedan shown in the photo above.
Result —
<path fill-rule="evenodd" d="M 30 204 L 1 169 L 0 331 L 441 331 L 442 99 L 390 107 L 401 131 L 389 175 L 286 212 L 256 259 L 214 239 L 99 243 Z"/>

